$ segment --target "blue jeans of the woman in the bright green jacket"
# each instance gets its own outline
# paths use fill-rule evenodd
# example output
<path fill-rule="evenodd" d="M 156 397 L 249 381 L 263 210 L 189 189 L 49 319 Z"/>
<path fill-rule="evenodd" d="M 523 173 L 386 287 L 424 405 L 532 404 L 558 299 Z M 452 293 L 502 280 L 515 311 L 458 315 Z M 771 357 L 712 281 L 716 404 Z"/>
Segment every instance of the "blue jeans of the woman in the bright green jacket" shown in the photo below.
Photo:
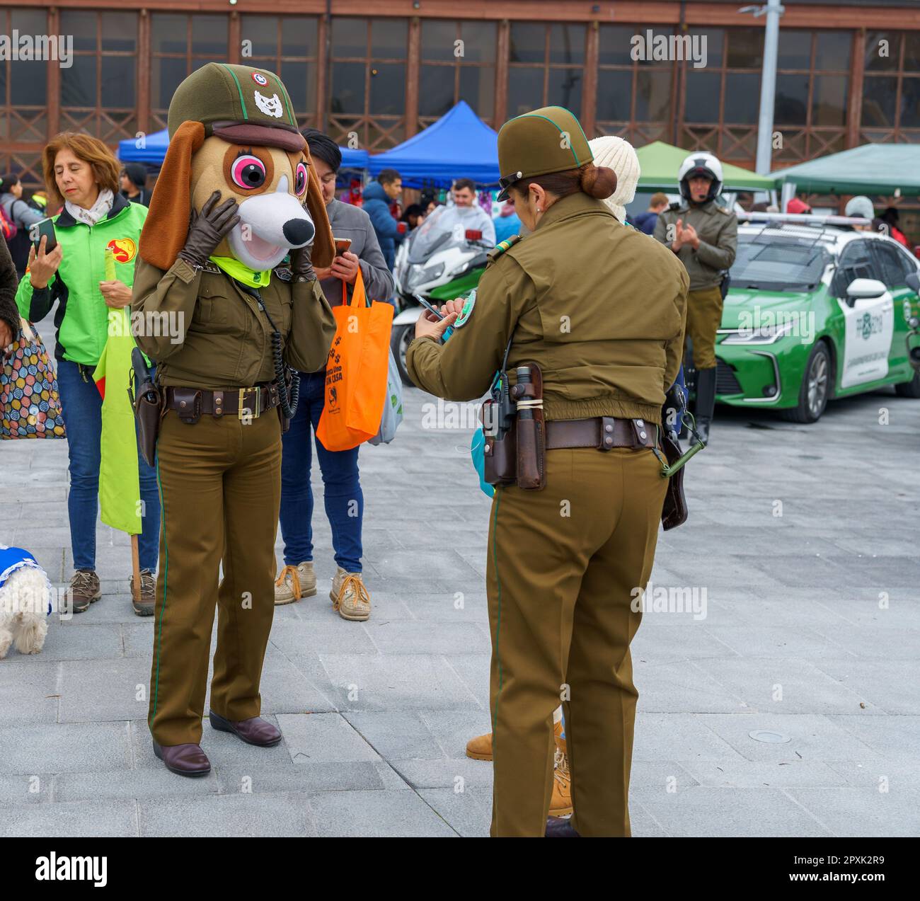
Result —
<path fill-rule="evenodd" d="M 95 570 L 102 398 L 93 381 L 92 367 L 83 367 L 85 380 L 77 364 L 70 360 L 58 360 L 57 364 L 61 413 L 70 459 L 67 514 L 70 518 L 74 569 Z M 144 530 L 138 540 L 140 564 L 142 570 L 155 572 L 160 549 L 160 499 L 156 490 L 156 474 L 144 463 L 140 448 L 137 468 L 141 480 L 141 500 L 144 501 Z"/>

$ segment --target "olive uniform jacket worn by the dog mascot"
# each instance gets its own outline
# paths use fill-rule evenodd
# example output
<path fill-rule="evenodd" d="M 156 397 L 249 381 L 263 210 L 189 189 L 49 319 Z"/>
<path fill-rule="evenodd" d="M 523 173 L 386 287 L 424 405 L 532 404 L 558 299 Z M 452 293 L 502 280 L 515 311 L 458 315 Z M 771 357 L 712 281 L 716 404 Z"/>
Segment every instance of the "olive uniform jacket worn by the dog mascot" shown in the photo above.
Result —
<path fill-rule="evenodd" d="M 316 280 L 289 279 L 289 270 L 275 269 L 259 295 L 282 334 L 285 361 L 315 372 L 326 363 L 335 318 Z M 163 271 L 138 260 L 131 306 L 132 318 L 144 314 L 143 327 L 134 329 L 143 334 L 135 340 L 155 360 L 163 385 L 213 390 L 274 380 L 269 318 L 255 297 L 213 263 L 196 270 L 176 260 Z M 156 329 L 157 321 L 165 325 Z"/>

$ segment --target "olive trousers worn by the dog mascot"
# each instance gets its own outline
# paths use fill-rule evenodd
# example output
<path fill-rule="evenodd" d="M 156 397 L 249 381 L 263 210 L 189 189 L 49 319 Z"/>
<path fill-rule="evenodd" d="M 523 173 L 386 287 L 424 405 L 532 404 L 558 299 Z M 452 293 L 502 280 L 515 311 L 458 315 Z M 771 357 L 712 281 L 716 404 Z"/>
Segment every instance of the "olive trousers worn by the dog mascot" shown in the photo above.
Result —
<path fill-rule="evenodd" d="M 267 410 L 248 422 L 204 415 L 190 425 L 168 410 L 156 450 L 163 515 L 148 723 L 159 745 L 197 745 L 215 607 L 210 708 L 227 720 L 261 711 L 275 609 L 281 422 Z"/>

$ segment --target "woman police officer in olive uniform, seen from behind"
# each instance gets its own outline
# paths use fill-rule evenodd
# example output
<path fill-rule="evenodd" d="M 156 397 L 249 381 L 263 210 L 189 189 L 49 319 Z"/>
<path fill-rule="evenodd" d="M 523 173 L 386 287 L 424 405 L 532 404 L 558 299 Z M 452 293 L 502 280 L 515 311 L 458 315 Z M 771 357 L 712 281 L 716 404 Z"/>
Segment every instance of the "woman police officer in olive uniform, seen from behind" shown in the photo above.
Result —
<path fill-rule="evenodd" d="M 599 200 L 615 175 L 593 165 L 569 110 L 506 122 L 499 162 L 531 234 L 492 251 L 462 314 L 451 301 L 443 320 L 420 319 L 407 355 L 415 384 L 445 399 L 481 397 L 509 340 L 508 371 L 535 362 L 543 374 L 546 488 L 497 488 L 489 522 L 491 832 L 544 835 L 561 698 L 571 826 L 628 836 L 631 601 L 654 559 L 666 482 L 651 446 L 680 366 L 688 280 Z"/>

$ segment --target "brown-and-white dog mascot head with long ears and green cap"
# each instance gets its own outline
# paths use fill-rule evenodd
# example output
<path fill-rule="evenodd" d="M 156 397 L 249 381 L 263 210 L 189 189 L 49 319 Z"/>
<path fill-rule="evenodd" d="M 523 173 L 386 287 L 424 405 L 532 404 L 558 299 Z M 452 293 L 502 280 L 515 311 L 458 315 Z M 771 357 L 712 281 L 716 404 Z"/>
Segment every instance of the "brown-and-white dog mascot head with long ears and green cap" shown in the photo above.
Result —
<path fill-rule="evenodd" d="M 331 265 L 335 245 L 319 179 L 278 75 L 247 65 L 204 65 L 176 89 L 168 128 L 169 148 L 141 236 L 144 260 L 169 269 L 188 237 L 190 212 L 220 191 L 218 203 L 233 197 L 239 204 L 240 221 L 215 256 L 265 271 L 312 244 L 314 266 Z"/>

